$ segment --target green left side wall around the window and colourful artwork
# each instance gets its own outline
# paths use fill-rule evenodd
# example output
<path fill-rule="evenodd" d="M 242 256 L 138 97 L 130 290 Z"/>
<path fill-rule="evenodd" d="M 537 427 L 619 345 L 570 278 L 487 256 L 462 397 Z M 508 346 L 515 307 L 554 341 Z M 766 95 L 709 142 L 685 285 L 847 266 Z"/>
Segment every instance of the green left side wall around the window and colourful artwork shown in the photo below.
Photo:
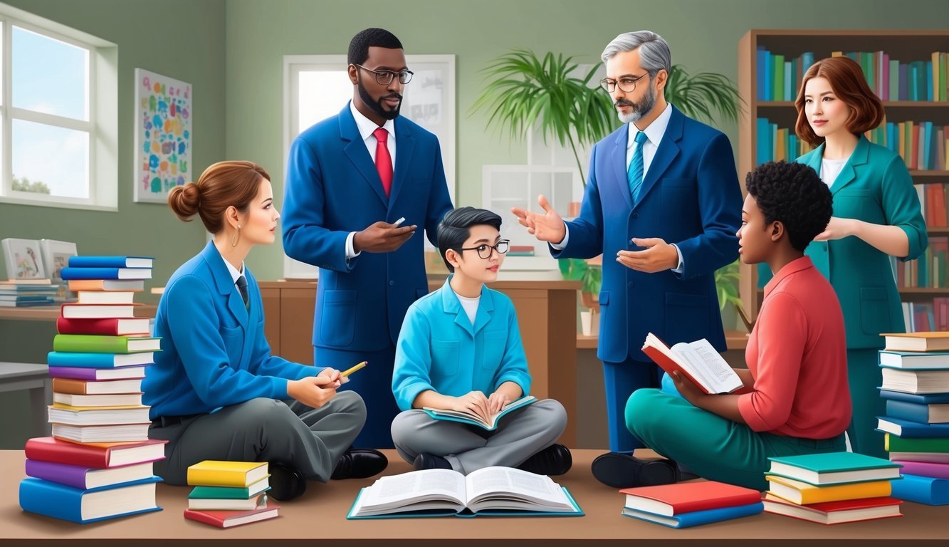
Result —
<path fill-rule="evenodd" d="M 7 0 L 57 23 L 119 47 L 119 211 L 102 213 L 0 203 L 0 238 L 75 241 L 87 255 L 154 255 L 155 279 L 164 280 L 204 244 L 199 221 L 185 224 L 167 206 L 132 202 L 133 80 L 136 67 L 194 85 L 195 148 L 200 172 L 224 157 L 224 0 Z M 161 21 L 167 21 L 162 25 Z M 154 25 L 153 28 L 149 28 Z M 0 260 L 3 262 L 3 260 Z M 7 278 L 0 264 L 0 279 Z M 151 295 L 138 298 L 145 301 Z M 50 349 L 50 322 L 0 321 L 0 361 L 42 363 Z M 22 420 L 25 391 L 0 393 L 0 448 L 18 448 L 30 436 Z"/>

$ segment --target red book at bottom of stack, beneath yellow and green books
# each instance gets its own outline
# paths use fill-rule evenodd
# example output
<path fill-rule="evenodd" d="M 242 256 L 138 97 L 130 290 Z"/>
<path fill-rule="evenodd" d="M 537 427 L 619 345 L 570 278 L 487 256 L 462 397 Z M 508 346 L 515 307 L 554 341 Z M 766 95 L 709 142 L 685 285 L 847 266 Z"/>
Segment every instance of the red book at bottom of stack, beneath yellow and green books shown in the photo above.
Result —
<path fill-rule="evenodd" d="M 798 505 L 782 500 L 771 493 L 765 495 L 765 513 L 784 515 L 794 519 L 809 520 L 821 524 L 843 524 L 858 520 L 902 517 L 902 500 L 894 498 L 861 498 L 859 500 L 825 501 Z"/>

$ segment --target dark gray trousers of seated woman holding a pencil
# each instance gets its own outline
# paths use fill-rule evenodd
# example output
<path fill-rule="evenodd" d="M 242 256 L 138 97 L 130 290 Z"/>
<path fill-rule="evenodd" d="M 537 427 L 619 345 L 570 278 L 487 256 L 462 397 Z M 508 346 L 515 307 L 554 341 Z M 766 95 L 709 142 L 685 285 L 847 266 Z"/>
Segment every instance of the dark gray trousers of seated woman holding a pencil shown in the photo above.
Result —
<path fill-rule="evenodd" d="M 363 428 L 365 404 L 355 391 L 341 391 L 320 408 L 258 398 L 162 422 L 153 422 L 148 436 L 168 441 L 155 473 L 169 484 L 186 484 L 188 466 L 204 460 L 280 462 L 326 482 Z"/>

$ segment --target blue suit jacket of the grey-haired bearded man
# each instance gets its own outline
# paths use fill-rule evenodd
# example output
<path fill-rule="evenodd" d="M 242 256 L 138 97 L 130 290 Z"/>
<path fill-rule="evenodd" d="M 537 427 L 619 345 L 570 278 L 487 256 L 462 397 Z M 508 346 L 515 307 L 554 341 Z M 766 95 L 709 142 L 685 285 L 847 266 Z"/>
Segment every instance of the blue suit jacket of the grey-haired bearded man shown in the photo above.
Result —
<path fill-rule="evenodd" d="M 593 146 L 580 217 L 568 222 L 568 245 L 554 257 L 603 253 L 600 345 L 597 356 L 621 363 L 649 361 L 647 332 L 670 346 L 707 338 L 725 350 L 714 274 L 735 261 L 741 222 L 741 189 L 735 157 L 720 131 L 672 116 L 632 202 L 626 179 L 628 125 Z M 679 246 L 681 274 L 644 274 L 615 260 L 621 250 L 641 250 L 632 237 L 661 237 Z"/>

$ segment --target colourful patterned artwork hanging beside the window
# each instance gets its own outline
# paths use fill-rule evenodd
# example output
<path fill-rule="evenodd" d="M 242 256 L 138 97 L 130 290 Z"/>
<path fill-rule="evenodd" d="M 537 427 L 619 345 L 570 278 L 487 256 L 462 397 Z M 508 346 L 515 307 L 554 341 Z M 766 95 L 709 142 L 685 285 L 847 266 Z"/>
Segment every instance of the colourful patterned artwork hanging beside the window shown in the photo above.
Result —
<path fill-rule="evenodd" d="M 135 69 L 135 192 L 139 202 L 167 203 L 192 174 L 191 84 Z"/>

